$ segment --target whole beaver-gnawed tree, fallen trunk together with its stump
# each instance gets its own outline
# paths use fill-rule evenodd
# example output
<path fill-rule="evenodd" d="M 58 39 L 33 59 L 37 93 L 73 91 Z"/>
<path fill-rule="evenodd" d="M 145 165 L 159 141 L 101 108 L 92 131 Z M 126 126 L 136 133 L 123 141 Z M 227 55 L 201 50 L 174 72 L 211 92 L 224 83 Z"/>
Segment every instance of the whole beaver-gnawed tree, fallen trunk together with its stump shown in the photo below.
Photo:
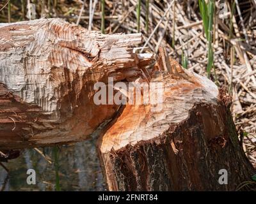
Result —
<path fill-rule="evenodd" d="M 250 180 L 228 97 L 163 49 L 148 69 L 152 55 L 130 48 L 140 41 L 60 19 L 0 24 L 0 150 L 77 142 L 98 130 L 109 190 L 232 190 Z M 163 87 L 150 94 L 163 92 L 163 101 L 95 105 L 93 85 L 108 77 L 135 84 L 152 77 Z M 228 185 L 218 183 L 221 169 Z"/>

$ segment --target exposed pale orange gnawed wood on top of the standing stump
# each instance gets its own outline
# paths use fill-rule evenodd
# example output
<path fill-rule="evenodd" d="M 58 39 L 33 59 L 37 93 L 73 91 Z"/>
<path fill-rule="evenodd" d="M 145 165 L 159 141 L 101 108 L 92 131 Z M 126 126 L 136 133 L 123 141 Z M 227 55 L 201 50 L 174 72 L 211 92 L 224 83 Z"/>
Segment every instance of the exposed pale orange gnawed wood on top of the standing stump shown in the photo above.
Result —
<path fill-rule="evenodd" d="M 140 141 L 161 135 L 169 128 L 170 123 L 186 120 L 189 110 L 196 103 L 216 105 L 218 98 L 216 85 L 191 71 L 186 71 L 186 74 L 189 80 L 170 77 L 165 77 L 164 80 L 161 77 L 154 78 L 152 82 L 163 80 L 163 88 L 156 87 L 154 90 L 156 94 L 163 92 L 163 102 L 158 104 L 158 111 L 152 112 L 152 105 L 127 105 L 115 125 L 103 136 L 100 151 L 118 150 L 127 144 L 135 145 Z"/>

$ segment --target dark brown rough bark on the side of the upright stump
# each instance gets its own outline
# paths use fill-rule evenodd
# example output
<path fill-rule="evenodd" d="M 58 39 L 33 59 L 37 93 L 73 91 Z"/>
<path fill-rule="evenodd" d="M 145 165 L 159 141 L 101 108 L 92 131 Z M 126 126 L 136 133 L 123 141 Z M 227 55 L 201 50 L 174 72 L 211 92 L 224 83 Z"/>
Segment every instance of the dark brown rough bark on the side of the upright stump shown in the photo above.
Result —
<path fill-rule="evenodd" d="M 162 135 L 100 158 L 111 191 L 234 191 L 255 173 L 221 100 L 198 103 Z M 221 169 L 228 172 L 227 185 L 218 182 Z"/>

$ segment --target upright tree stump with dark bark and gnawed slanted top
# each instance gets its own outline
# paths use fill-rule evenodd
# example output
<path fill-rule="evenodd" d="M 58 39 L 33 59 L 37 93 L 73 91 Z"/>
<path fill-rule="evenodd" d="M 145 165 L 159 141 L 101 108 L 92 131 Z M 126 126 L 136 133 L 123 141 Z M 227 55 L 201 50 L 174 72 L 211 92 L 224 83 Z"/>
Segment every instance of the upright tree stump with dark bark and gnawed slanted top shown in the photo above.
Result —
<path fill-rule="evenodd" d="M 99 139 L 109 190 L 230 191 L 251 180 L 255 170 L 239 145 L 231 99 L 164 52 L 158 66 L 170 70 L 154 79 L 163 88 L 150 92 L 163 92 L 160 109 L 126 105 Z"/>

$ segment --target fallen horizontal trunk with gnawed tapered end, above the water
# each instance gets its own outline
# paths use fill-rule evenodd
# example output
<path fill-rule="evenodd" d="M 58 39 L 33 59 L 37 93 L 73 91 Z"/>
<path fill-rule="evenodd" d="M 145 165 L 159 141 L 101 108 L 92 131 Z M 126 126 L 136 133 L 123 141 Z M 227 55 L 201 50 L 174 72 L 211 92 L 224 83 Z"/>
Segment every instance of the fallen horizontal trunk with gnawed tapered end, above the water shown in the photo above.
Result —
<path fill-rule="evenodd" d="M 118 109 L 95 105 L 93 85 L 141 75 L 152 54 L 135 54 L 140 42 L 58 18 L 0 24 L 0 150 L 87 138 Z"/>

